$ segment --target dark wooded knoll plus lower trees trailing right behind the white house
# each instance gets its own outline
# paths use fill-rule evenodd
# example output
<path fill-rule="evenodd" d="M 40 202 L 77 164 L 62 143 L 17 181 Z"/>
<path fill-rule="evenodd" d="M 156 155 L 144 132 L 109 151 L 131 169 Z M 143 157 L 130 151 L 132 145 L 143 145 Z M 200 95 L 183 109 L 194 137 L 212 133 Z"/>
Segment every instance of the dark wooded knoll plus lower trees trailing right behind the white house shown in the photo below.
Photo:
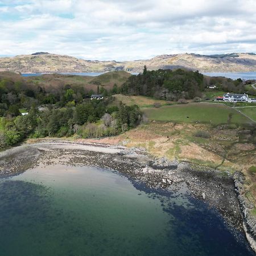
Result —
<path fill-rule="evenodd" d="M 209 85 L 216 85 L 219 90 L 224 92 L 255 94 L 253 88 L 247 92 L 241 79 L 205 77 L 198 71 L 184 69 L 147 71 L 146 66 L 143 73 L 129 77 L 122 85 L 121 93 L 177 101 L 201 97 Z"/>

